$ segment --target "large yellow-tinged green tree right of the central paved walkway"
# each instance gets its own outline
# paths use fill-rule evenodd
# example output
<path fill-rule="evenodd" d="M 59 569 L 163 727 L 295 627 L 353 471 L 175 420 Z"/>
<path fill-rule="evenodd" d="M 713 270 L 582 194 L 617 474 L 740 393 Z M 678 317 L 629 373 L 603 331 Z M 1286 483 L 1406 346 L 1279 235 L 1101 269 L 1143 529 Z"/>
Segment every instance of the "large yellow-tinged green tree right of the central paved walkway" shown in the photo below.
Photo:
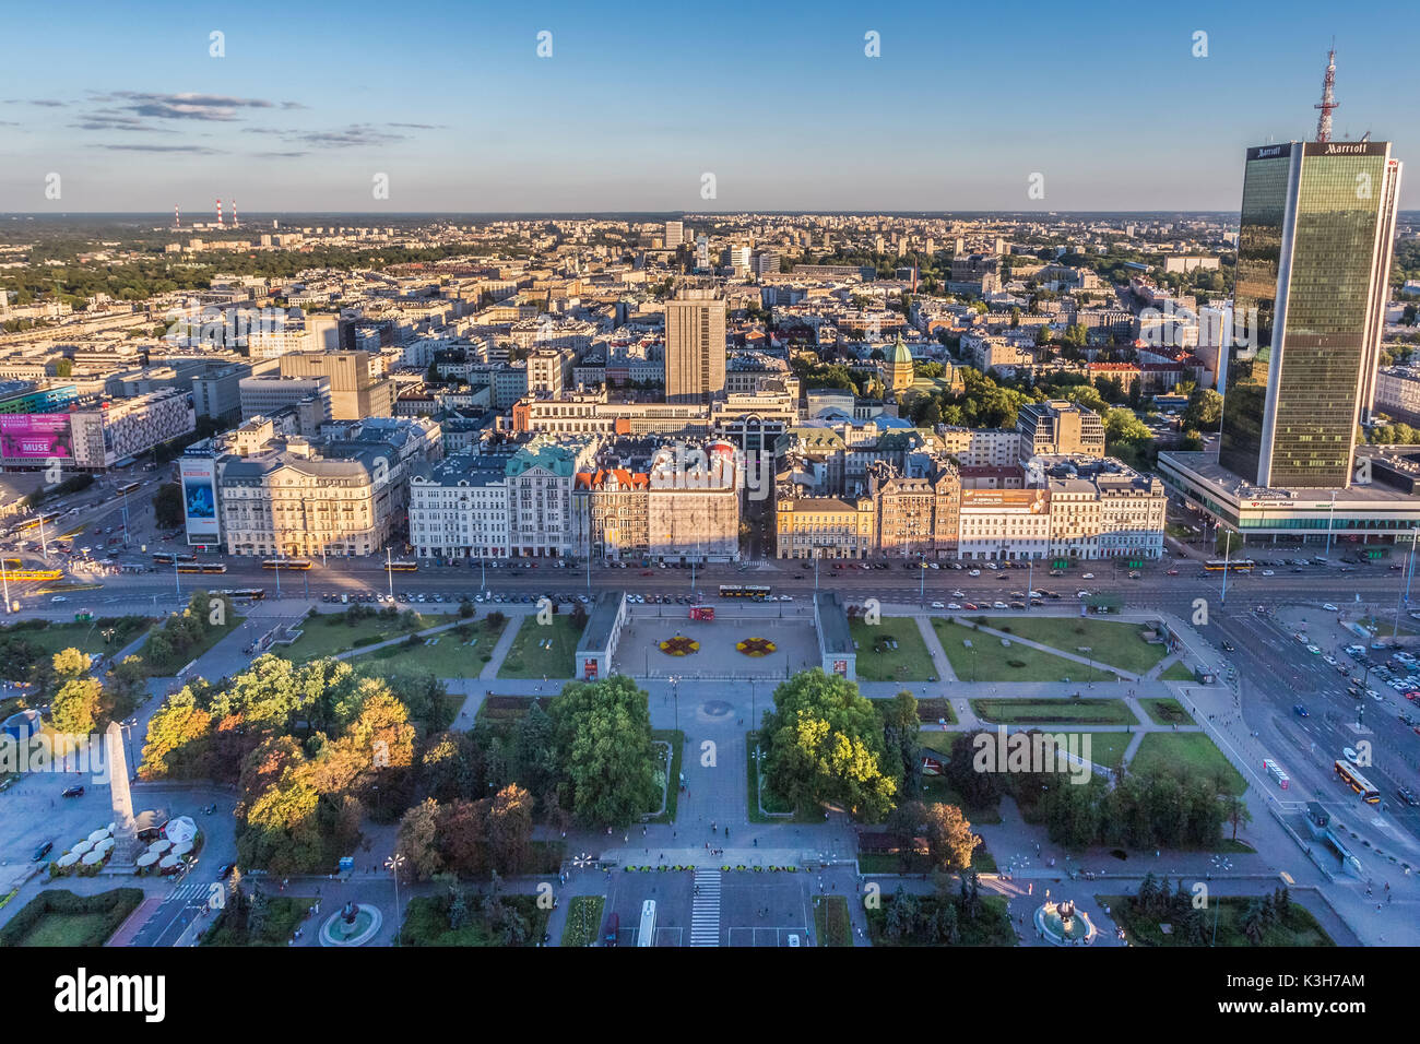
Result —
<path fill-rule="evenodd" d="M 815 668 L 775 689 L 761 743 L 770 788 L 799 811 L 836 803 L 876 822 L 893 807 L 899 787 L 880 720 L 845 678 Z"/>

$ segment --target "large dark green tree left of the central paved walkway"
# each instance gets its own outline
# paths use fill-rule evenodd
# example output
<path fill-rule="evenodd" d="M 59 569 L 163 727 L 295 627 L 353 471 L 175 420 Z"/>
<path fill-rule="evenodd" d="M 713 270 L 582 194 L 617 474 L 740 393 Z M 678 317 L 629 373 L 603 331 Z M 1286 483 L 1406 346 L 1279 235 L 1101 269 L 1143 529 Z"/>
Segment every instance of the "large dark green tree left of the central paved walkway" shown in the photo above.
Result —
<path fill-rule="evenodd" d="M 625 675 L 574 682 L 552 705 L 558 764 L 582 822 L 625 827 L 655 808 L 656 766 L 646 692 Z"/>

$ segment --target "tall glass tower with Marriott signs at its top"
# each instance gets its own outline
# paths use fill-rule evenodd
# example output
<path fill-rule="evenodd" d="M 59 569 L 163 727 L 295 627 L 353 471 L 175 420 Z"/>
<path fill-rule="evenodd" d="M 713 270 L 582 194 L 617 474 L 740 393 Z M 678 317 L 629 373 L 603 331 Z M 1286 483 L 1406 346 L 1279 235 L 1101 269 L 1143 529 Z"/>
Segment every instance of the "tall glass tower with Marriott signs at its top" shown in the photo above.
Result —
<path fill-rule="evenodd" d="M 1389 142 L 1248 149 L 1218 462 L 1258 486 L 1346 487 L 1375 395 L 1400 162 Z"/>

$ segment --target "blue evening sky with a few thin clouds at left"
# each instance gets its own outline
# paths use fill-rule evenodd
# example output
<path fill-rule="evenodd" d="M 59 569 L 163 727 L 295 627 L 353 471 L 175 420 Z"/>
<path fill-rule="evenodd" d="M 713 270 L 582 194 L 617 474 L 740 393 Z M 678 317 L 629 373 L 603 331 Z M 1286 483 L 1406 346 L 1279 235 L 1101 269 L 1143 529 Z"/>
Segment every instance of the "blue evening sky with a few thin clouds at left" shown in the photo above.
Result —
<path fill-rule="evenodd" d="M 1386 7 L 14 4 L 0 213 L 1235 212 L 1333 37 L 1333 138 L 1420 162 Z"/>

